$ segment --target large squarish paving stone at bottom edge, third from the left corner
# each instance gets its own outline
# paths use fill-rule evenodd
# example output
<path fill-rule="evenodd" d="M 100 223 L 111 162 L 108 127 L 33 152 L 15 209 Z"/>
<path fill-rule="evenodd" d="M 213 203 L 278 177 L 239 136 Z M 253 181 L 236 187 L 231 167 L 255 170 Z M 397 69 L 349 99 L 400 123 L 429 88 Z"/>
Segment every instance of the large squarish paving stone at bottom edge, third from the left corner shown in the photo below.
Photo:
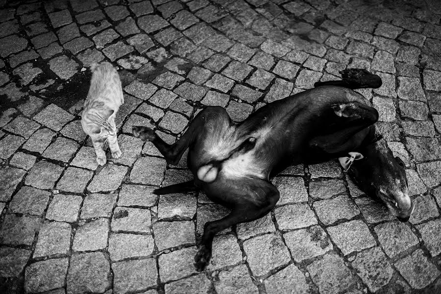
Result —
<path fill-rule="evenodd" d="M 102 252 L 75 254 L 67 274 L 67 293 L 102 293 L 110 286 L 109 262 Z"/>

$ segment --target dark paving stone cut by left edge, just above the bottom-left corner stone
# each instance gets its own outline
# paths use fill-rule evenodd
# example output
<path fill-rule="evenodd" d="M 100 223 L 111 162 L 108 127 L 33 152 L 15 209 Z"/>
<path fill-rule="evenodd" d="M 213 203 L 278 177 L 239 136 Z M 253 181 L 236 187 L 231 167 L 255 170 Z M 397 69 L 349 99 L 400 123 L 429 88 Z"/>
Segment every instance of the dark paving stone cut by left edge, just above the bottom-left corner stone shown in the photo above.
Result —
<path fill-rule="evenodd" d="M 16 277 L 24 269 L 30 250 L 12 247 L 0 247 L 0 275 L 2 277 Z"/>

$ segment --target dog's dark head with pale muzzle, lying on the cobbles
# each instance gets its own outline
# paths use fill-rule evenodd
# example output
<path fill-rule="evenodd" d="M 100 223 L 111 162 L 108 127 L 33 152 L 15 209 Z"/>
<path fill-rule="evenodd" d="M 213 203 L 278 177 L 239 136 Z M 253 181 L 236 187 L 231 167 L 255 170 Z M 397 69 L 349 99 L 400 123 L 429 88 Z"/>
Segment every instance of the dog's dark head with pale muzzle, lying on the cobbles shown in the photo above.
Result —
<path fill-rule="evenodd" d="M 409 220 L 414 203 L 409 197 L 405 164 L 394 157 L 384 140 L 363 150 L 363 159 L 355 160 L 348 173 L 368 196 L 383 202 L 391 214 L 401 221 Z"/>

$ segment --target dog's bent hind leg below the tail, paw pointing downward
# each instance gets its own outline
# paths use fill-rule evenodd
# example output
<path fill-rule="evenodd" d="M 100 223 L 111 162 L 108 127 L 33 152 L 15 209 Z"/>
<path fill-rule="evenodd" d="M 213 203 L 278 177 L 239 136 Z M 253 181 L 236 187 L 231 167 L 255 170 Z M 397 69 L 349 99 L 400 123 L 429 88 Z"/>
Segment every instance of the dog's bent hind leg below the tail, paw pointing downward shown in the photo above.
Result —
<path fill-rule="evenodd" d="M 228 199 L 235 202 L 227 216 L 205 223 L 201 245 L 195 256 L 196 270 L 203 270 L 209 263 L 214 236 L 222 230 L 242 222 L 249 222 L 268 214 L 279 200 L 279 191 L 270 182 L 257 179 L 238 183 L 236 190 L 224 190 L 231 193 Z"/>

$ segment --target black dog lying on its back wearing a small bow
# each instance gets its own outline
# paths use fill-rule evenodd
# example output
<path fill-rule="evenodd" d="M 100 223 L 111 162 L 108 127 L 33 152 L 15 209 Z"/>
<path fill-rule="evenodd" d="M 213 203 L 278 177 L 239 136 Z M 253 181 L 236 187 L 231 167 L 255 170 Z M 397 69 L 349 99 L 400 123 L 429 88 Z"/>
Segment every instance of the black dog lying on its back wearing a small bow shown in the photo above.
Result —
<path fill-rule="evenodd" d="M 157 194 L 203 190 L 214 202 L 231 209 L 222 219 L 207 222 L 195 266 L 210 260 L 213 237 L 221 230 L 268 214 L 279 200 L 270 182 L 289 165 L 340 158 L 356 184 L 381 199 L 392 214 L 409 219 L 404 163 L 392 156 L 374 123 L 378 112 L 351 89 L 381 86 L 381 79 L 360 69 L 344 70 L 343 80 L 316 83 L 316 88 L 275 101 L 236 124 L 222 107 L 200 111 L 174 144 L 153 130 L 133 127 L 133 134 L 151 141 L 170 164 L 189 148 L 188 166 L 194 181 L 163 187 Z"/>

